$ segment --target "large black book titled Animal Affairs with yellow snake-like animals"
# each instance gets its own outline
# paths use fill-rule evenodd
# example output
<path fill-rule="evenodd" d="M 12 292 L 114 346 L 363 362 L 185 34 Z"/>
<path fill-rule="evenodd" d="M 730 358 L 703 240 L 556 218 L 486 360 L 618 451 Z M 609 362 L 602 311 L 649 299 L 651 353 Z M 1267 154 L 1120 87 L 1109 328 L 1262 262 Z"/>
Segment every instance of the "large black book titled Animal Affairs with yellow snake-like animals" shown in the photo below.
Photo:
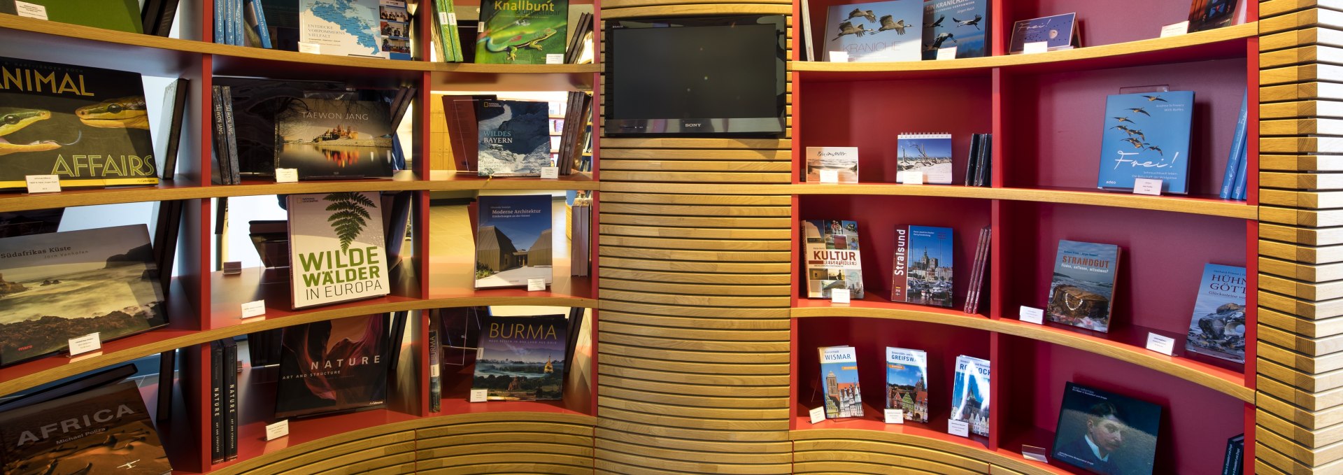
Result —
<path fill-rule="evenodd" d="M 0 189 L 158 182 L 140 74 L 0 58 Z"/>

